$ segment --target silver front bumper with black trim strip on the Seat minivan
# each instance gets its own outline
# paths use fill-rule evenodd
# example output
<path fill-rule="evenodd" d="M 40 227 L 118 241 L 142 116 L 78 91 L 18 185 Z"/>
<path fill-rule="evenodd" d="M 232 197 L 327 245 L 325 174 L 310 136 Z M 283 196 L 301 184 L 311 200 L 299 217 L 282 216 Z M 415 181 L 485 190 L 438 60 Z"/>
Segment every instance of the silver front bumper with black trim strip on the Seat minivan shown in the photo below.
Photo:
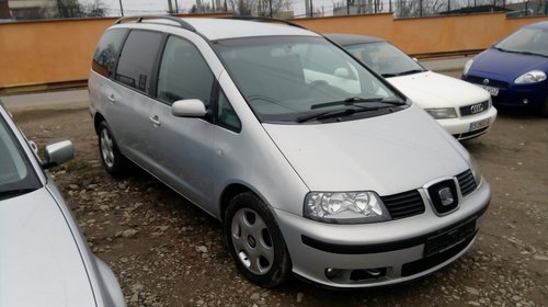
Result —
<path fill-rule="evenodd" d="M 429 204 L 424 191 L 420 193 Z M 294 273 L 331 287 L 372 287 L 411 281 L 458 259 L 472 246 L 490 196 L 491 189 L 482 181 L 449 215 L 437 216 L 426 205 L 421 215 L 362 225 L 318 223 L 282 211 L 275 214 Z M 466 238 L 424 257 L 426 241 L 465 227 L 472 227 Z"/>

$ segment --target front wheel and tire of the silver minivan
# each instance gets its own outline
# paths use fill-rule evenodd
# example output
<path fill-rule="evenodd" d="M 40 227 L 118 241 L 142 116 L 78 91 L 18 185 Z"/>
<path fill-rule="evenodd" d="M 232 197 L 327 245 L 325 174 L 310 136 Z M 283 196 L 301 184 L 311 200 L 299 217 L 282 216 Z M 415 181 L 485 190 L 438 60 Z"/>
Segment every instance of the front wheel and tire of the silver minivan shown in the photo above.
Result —
<path fill-rule="evenodd" d="M 224 220 L 225 239 L 236 265 L 256 285 L 274 287 L 290 273 L 290 258 L 274 215 L 253 193 L 233 197 Z"/>

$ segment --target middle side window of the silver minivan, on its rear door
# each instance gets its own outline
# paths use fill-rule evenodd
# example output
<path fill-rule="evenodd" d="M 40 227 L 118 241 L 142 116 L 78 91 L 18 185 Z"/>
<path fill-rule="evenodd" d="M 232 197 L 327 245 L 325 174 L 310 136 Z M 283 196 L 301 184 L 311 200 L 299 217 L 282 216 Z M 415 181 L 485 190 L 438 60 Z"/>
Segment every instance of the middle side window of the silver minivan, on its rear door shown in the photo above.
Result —
<path fill-rule="evenodd" d="M 150 93 L 150 79 L 161 41 L 160 33 L 132 31 L 119 56 L 116 81 Z"/>

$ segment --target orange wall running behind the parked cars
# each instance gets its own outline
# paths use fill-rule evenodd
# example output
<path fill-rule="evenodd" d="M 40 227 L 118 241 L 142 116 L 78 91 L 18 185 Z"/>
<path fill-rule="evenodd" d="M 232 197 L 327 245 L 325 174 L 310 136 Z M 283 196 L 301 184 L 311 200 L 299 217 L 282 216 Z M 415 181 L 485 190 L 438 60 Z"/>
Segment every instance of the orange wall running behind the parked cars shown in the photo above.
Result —
<path fill-rule="evenodd" d="M 395 20 L 391 14 L 298 19 L 317 32 L 380 36 L 409 54 L 483 49 L 514 30 L 548 18 L 473 14 Z M 98 39 L 115 19 L 0 23 L 0 90 L 39 89 L 88 78 Z"/>

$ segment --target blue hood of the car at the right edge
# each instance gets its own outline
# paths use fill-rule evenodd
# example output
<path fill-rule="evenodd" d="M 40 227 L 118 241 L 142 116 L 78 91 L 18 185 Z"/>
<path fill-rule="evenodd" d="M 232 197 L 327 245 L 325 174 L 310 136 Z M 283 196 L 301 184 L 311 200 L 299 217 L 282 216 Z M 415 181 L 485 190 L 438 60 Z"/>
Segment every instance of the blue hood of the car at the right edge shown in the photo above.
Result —
<path fill-rule="evenodd" d="M 548 58 L 487 49 L 473 58 L 469 75 L 487 76 L 513 82 L 523 73 L 539 69 L 548 71 Z"/>

